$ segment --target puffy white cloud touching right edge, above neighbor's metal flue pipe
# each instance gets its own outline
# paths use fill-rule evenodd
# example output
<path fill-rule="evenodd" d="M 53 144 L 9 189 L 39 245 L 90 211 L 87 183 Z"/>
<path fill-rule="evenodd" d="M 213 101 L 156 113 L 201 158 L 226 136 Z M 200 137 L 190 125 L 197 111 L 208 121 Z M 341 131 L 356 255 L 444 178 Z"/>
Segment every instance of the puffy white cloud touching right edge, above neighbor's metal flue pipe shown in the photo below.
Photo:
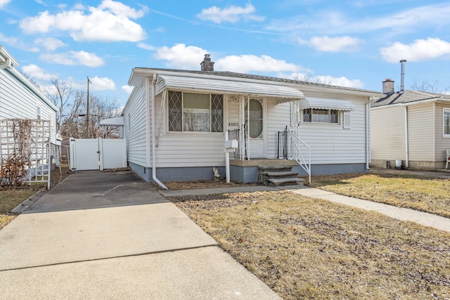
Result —
<path fill-rule="evenodd" d="M 423 61 L 450 56 L 450 43 L 442 39 L 416 39 L 411 44 L 396 42 L 392 46 L 381 48 L 383 60 L 390 63 L 398 63 L 399 60 Z"/>

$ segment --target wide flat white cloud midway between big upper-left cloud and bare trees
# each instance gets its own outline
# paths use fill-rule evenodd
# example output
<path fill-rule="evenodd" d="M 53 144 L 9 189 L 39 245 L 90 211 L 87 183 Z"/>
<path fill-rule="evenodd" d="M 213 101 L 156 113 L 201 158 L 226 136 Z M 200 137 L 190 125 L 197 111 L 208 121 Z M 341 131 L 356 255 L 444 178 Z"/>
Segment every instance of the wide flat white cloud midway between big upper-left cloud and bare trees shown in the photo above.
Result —
<path fill-rule="evenodd" d="M 60 65 L 86 65 L 87 67 L 99 67 L 105 64 L 103 59 L 99 58 L 94 53 L 86 51 L 42 54 L 39 58 L 46 63 L 58 63 Z"/>

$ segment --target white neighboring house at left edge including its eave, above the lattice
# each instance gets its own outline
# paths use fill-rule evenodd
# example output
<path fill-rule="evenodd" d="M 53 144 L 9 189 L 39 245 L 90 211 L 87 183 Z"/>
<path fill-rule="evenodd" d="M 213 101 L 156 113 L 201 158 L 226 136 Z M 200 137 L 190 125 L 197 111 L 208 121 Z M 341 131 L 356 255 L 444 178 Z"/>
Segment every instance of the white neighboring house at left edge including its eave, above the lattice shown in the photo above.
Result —
<path fill-rule="evenodd" d="M 0 45 L 0 119 L 49 120 L 51 143 L 57 141 L 57 107 L 23 76 L 19 63 Z"/>

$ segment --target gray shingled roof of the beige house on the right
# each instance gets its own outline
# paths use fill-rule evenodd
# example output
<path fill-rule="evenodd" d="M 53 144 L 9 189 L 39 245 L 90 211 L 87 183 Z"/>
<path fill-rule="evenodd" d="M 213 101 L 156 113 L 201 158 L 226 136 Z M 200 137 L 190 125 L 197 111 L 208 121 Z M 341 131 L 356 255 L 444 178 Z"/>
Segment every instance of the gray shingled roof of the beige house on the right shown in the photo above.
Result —
<path fill-rule="evenodd" d="M 404 91 L 404 93 L 392 93 L 383 98 L 376 100 L 371 107 L 379 107 L 385 105 L 394 105 L 399 103 L 413 103 L 423 100 L 450 100 L 450 95 L 440 93 L 427 93 L 423 91 Z"/>

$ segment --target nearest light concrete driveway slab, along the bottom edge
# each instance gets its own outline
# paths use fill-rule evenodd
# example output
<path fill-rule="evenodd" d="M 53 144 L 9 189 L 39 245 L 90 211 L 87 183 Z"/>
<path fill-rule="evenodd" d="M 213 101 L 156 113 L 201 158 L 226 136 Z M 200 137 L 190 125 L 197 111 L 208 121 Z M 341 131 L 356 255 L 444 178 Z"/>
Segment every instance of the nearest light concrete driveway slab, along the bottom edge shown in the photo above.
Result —
<path fill-rule="evenodd" d="M 0 272 L 3 299 L 281 299 L 219 247 Z"/>

